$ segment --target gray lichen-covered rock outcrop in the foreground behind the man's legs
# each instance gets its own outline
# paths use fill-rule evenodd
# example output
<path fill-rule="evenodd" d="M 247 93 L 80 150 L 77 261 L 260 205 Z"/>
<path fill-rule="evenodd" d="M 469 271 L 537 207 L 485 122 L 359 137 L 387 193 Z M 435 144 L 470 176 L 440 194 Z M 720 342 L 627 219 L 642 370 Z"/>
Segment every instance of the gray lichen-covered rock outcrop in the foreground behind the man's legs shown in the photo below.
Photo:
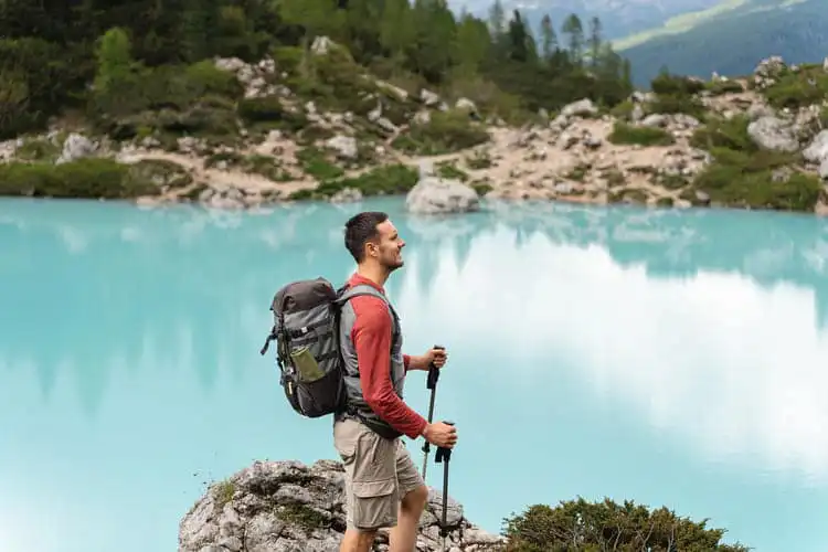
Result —
<path fill-rule="evenodd" d="M 338 552 L 346 529 L 341 463 L 255 461 L 213 484 L 179 526 L 179 552 Z M 446 551 L 505 550 L 505 539 L 471 524 L 449 498 Z M 429 489 L 416 550 L 443 550 L 442 497 Z M 388 531 L 374 551 L 388 550 Z"/>

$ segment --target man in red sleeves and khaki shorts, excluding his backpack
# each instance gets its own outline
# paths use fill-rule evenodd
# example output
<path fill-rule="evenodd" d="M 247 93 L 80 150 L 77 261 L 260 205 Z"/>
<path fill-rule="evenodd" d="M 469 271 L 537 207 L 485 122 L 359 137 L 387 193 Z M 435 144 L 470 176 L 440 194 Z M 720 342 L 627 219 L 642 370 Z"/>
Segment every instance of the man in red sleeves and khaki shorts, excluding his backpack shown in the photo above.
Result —
<path fill-rule="evenodd" d="M 428 424 L 402 399 L 410 370 L 442 368 L 438 349 L 402 353 L 400 323 L 384 285 L 403 266 L 405 242 L 385 213 L 364 212 L 346 224 L 346 247 L 357 262 L 354 291 L 342 308 L 340 342 L 348 399 L 333 422 L 333 442 L 346 467 L 348 528 L 340 552 L 369 552 L 376 530 L 390 527 L 391 552 L 412 552 L 428 491 L 401 436 L 423 436 L 438 447 L 457 443 L 454 426 Z"/>

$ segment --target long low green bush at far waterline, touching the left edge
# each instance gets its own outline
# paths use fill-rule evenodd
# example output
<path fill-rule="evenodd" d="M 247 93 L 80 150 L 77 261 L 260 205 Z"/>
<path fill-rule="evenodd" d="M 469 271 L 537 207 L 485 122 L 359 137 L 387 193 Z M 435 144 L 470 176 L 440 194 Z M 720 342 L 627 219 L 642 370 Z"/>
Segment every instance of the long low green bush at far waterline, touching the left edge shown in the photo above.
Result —
<path fill-rule="evenodd" d="M 81 159 L 63 164 L 0 164 L 0 195 L 127 199 L 160 191 L 135 168 L 112 159 Z"/>

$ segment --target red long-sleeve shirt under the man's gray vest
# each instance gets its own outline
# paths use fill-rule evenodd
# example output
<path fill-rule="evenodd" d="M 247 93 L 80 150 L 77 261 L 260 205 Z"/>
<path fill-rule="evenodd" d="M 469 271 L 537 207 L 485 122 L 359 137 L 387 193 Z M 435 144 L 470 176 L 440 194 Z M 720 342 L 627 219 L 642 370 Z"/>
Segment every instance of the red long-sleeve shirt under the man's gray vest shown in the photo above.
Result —
<path fill-rule="evenodd" d="M 385 293 L 381 286 L 358 274 L 348 284 L 368 284 Z M 416 438 L 425 429 L 426 420 L 397 396 L 391 383 L 392 326 L 389 308 L 382 299 L 370 295 L 354 297 L 351 306 L 355 315 L 351 339 L 357 351 L 362 395 L 371 410 L 394 429 Z M 410 360 L 407 354 L 403 355 L 406 370 Z"/>

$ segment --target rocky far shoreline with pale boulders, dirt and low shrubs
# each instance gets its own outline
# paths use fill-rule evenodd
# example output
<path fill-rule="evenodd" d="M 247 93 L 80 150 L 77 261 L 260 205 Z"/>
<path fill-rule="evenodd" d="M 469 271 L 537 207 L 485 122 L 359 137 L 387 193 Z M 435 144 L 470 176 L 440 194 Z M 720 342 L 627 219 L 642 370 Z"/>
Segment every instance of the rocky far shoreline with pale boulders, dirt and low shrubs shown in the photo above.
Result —
<path fill-rule="evenodd" d="M 314 52 L 327 55 L 331 47 L 330 41 L 317 40 Z M 828 214 L 826 98 L 796 108 L 773 105 L 779 82 L 803 72 L 828 74 L 824 67 L 788 66 L 774 57 L 750 78 L 678 79 L 690 87 L 681 96 L 687 105 L 670 108 L 657 93 L 636 92 L 609 112 L 584 98 L 510 127 L 484 118 L 466 98 L 450 106 L 433 92 L 412 96 L 381 81 L 374 82 L 381 91 L 373 99 L 376 107 L 364 116 L 326 112 L 278 84 L 273 60 L 250 65 L 219 59 L 214 64 L 235 75 L 245 99 L 278 98 L 279 109 L 295 112 L 304 121 L 300 134 L 312 129 L 319 136 L 242 128 L 241 140 L 216 145 L 189 136 L 167 142 L 152 136 L 117 141 L 54 130 L 0 144 L 0 168 L 2 162 L 61 166 L 109 159 L 128 167 L 130 178 L 151 190 L 130 198 L 141 205 L 250 209 L 304 199 L 348 202 L 376 194 L 411 197 L 420 182 L 418 206 L 412 208 L 418 212 L 474 210 L 479 199 L 508 199 Z M 807 86 L 807 75 L 803 78 Z M 449 116 L 454 125 L 464 125 L 457 131 L 469 137 L 467 147 L 437 155 L 410 151 L 406 145 L 418 128 Z M 730 185 L 733 177 L 720 166 L 734 176 L 756 170 L 754 180 L 768 190 L 756 191 L 760 184 L 751 189 L 749 182 Z M 788 181 L 792 190 L 785 189 Z"/>

